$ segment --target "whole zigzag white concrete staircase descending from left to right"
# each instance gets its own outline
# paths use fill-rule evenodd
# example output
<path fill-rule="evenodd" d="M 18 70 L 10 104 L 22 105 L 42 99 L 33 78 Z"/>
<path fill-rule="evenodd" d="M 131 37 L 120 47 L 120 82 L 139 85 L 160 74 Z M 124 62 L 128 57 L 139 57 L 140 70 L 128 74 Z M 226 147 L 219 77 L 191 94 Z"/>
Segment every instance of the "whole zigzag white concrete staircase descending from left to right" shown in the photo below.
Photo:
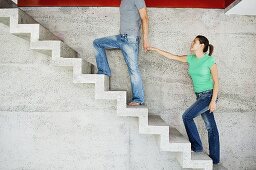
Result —
<path fill-rule="evenodd" d="M 77 53 L 23 11 L 0 9 L 0 22 L 9 25 L 10 33 L 27 38 L 30 48 L 52 57 L 51 64 L 73 68 L 74 83 L 95 84 L 95 99 L 116 100 L 117 115 L 137 117 L 139 133 L 156 135 L 160 149 L 177 155 L 183 168 L 213 169 L 212 160 L 205 153 L 191 152 L 190 142 L 175 128 L 169 127 L 159 116 L 149 116 L 144 106 L 127 106 L 126 91 L 109 91 L 109 78 L 92 74 L 93 65 L 77 58 Z"/>

